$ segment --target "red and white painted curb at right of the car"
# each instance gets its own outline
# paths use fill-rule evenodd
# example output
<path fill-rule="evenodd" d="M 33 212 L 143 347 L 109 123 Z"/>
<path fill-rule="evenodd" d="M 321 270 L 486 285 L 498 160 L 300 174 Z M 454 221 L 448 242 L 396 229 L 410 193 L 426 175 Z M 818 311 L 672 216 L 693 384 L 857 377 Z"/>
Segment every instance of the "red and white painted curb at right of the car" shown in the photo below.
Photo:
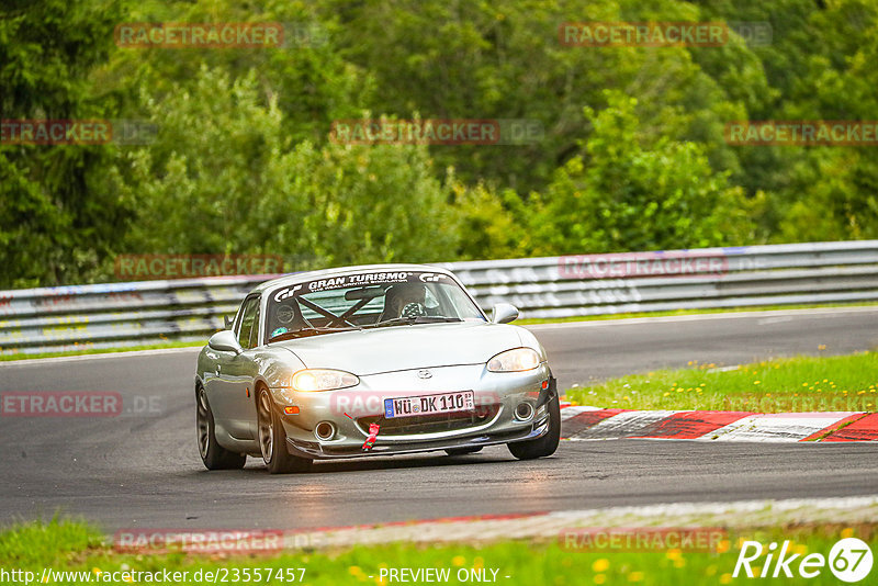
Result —
<path fill-rule="evenodd" d="M 601 409 L 563 405 L 567 440 L 878 441 L 878 414 Z"/>

